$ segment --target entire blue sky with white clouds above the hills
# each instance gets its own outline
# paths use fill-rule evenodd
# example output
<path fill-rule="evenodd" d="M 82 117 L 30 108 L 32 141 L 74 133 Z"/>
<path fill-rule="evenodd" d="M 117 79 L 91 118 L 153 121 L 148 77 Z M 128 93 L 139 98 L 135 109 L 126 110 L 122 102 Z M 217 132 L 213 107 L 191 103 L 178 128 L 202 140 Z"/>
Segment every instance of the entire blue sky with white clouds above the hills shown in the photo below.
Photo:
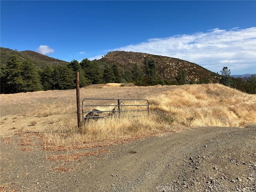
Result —
<path fill-rule="evenodd" d="M 256 73 L 256 1 L 0 1 L 0 46 L 65 61 L 110 51 Z"/>

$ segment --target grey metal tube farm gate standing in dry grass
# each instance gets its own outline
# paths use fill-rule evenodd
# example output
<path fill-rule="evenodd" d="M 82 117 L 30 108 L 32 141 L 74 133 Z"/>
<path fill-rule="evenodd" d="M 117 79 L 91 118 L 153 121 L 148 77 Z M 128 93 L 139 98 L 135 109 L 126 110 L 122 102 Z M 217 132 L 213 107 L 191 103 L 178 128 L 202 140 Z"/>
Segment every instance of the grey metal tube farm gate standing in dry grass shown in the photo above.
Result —
<path fill-rule="evenodd" d="M 82 100 L 83 122 L 108 117 L 135 117 L 149 115 L 146 99 L 84 98 Z"/>

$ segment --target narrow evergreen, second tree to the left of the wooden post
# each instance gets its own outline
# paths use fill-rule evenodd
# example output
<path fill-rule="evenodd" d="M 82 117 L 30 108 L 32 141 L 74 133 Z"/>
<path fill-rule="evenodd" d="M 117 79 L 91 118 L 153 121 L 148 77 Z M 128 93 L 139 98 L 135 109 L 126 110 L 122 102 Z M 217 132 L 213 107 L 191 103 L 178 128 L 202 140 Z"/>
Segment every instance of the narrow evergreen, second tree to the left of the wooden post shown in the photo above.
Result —
<path fill-rule="evenodd" d="M 52 90 L 53 89 L 53 68 L 47 65 L 44 70 L 40 73 L 41 83 L 44 90 Z"/>

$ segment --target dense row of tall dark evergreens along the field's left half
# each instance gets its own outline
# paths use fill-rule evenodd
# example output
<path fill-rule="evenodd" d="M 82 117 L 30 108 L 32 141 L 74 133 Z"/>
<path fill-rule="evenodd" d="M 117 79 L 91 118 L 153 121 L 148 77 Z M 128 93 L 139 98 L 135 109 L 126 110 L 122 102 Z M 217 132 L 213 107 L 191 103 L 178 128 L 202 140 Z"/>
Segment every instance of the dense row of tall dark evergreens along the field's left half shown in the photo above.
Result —
<path fill-rule="evenodd" d="M 122 82 L 121 72 L 116 64 L 100 66 L 84 59 L 72 60 L 67 64 L 46 66 L 40 70 L 35 64 L 18 61 L 12 56 L 6 65 L 1 65 L 1 93 L 33 92 L 39 90 L 65 90 L 76 87 L 76 72 L 80 73 L 80 86 L 108 82 Z"/>

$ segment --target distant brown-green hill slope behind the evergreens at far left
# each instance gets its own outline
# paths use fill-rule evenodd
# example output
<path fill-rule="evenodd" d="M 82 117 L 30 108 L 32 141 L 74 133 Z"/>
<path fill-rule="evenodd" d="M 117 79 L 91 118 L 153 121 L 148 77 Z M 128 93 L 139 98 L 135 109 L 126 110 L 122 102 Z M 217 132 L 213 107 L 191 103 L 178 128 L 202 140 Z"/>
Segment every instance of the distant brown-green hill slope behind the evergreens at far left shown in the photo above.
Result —
<path fill-rule="evenodd" d="M 17 50 L 11 50 L 9 48 L 0 48 L 0 64 L 6 64 L 9 58 L 13 55 L 16 55 L 18 60 L 23 62 L 24 60 L 30 61 L 38 68 L 44 68 L 46 65 L 56 66 L 58 64 L 65 64 L 66 61 L 55 59 L 52 57 L 48 57 L 46 55 L 42 55 L 38 52 L 34 51 L 17 51 Z"/>

